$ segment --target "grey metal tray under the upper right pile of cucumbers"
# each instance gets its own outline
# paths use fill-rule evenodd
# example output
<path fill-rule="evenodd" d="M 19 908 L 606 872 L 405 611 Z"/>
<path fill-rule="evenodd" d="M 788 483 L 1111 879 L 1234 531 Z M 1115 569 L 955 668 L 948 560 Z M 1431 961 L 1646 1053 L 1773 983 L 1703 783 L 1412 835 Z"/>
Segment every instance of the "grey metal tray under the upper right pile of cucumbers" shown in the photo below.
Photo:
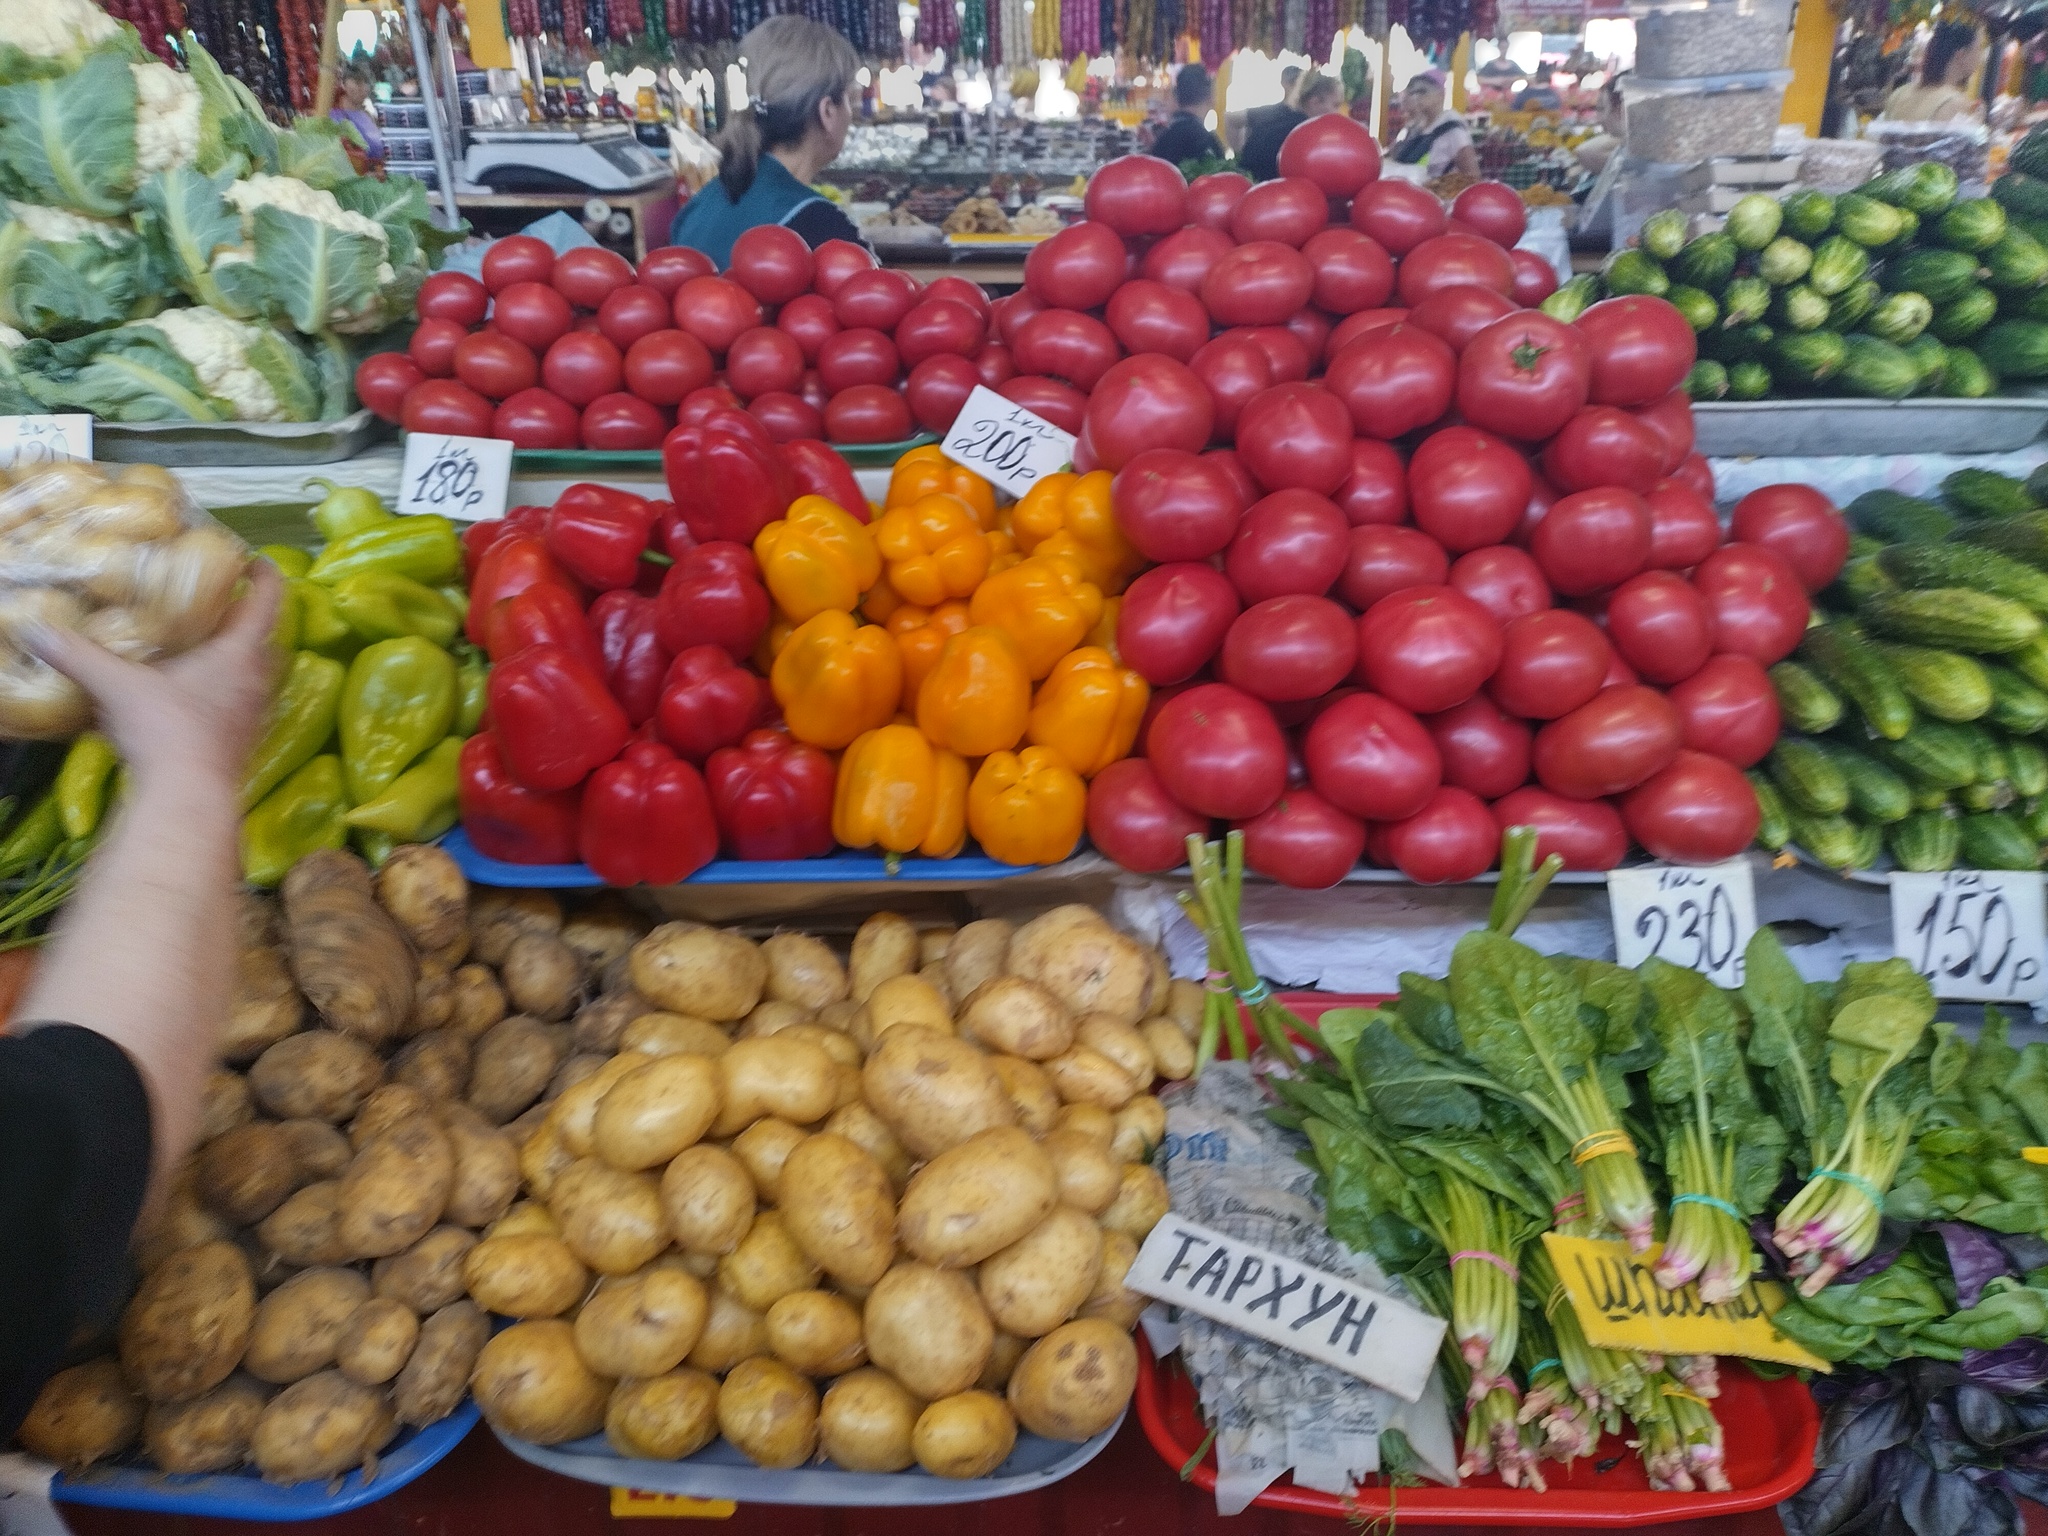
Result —
<path fill-rule="evenodd" d="M 2048 399 L 1716 399 L 1692 424 L 1708 459 L 2011 453 L 2048 426 Z"/>

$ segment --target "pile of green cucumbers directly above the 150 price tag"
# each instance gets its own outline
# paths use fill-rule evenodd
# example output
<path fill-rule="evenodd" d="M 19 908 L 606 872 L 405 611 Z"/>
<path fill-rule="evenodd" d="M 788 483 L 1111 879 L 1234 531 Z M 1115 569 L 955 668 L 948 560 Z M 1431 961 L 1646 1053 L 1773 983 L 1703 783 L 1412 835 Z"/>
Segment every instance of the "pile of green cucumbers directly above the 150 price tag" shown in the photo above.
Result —
<path fill-rule="evenodd" d="M 1772 668 L 1757 842 L 1831 868 L 2040 868 L 2048 850 L 2048 465 L 1866 492 L 1849 563 Z"/>

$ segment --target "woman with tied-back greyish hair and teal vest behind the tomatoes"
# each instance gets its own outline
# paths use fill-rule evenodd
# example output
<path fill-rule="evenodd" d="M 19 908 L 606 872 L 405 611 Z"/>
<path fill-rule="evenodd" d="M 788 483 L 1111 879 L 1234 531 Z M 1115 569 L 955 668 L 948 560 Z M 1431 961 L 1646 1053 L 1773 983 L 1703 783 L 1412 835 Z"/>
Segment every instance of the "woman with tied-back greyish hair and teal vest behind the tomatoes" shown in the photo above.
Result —
<path fill-rule="evenodd" d="M 846 147 L 860 55 L 823 23 L 770 16 L 739 39 L 750 104 L 719 131 L 719 178 L 676 215 L 668 240 L 705 252 L 723 270 L 733 242 L 762 223 L 795 229 L 813 248 L 860 240 L 854 221 L 811 190 Z"/>

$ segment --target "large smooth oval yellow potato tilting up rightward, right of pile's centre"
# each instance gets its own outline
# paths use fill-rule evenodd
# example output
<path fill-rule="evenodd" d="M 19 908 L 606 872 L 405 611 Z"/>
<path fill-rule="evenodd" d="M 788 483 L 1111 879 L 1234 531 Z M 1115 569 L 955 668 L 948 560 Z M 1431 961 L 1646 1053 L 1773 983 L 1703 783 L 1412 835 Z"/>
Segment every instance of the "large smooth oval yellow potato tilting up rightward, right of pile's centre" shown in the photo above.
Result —
<path fill-rule="evenodd" d="M 1028 1130 L 997 1126 L 911 1176 L 897 1235 L 907 1253 L 958 1270 L 1024 1237 L 1053 1210 L 1055 1198 L 1053 1159 Z"/>

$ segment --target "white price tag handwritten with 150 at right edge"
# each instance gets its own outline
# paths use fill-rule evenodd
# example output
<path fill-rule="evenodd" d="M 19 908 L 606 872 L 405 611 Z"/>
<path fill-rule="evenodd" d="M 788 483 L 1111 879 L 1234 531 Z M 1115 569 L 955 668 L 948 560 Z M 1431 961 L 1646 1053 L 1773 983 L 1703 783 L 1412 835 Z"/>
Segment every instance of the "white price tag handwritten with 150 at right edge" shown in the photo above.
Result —
<path fill-rule="evenodd" d="M 1892 950 L 1935 997 L 2034 1004 L 2048 997 L 2042 877 L 2019 870 L 1892 874 Z"/>

